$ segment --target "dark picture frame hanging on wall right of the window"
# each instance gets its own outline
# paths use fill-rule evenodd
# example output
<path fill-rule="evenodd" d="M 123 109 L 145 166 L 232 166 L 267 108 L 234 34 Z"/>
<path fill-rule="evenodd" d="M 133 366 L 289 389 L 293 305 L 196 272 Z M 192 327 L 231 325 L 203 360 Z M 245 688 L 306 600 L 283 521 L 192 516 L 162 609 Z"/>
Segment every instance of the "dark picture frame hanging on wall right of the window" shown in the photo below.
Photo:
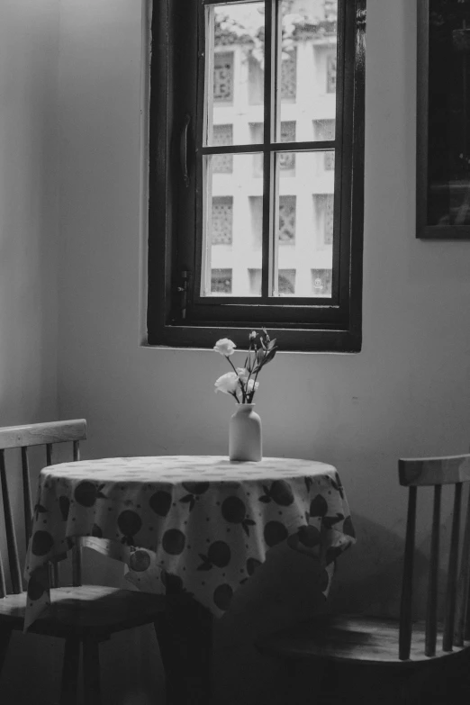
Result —
<path fill-rule="evenodd" d="M 470 240 L 470 0 L 418 0 L 417 68 L 416 237 Z"/>

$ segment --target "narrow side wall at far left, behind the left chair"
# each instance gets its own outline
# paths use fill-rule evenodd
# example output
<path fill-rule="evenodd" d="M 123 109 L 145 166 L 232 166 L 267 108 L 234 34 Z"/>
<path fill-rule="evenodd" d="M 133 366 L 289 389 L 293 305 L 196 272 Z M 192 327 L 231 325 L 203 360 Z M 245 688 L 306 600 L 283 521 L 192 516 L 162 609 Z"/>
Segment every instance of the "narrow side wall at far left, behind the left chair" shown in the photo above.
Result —
<path fill-rule="evenodd" d="M 58 418 L 58 67 L 59 0 L 2 0 L 0 426 Z M 7 459 L 14 460 L 13 451 Z M 20 520 L 14 469 L 8 481 Z M 39 469 L 33 463 L 32 475 Z M 4 538 L 2 526 L 5 556 Z M 22 556 L 23 546 L 22 536 Z M 54 639 L 40 644 L 37 637 L 14 635 L 0 680 L 2 701 L 32 701 L 44 673 L 50 682 L 59 679 L 59 655 Z"/>

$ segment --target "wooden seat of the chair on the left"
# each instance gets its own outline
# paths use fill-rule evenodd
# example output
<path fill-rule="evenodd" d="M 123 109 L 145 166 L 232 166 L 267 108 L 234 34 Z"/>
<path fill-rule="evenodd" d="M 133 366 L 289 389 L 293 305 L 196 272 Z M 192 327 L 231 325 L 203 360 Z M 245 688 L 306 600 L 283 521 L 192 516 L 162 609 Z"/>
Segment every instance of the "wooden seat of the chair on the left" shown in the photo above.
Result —
<path fill-rule="evenodd" d="M 26 592 L 0 599 L 0 625 L 23 629 L 26 599 Z M 36 619 L 29 632 L 107 638 L 114 632 L 155 621 L 165 610 L 164 595 L 104 585 L 53 588 L 50 600 L 50 607 Z"/>

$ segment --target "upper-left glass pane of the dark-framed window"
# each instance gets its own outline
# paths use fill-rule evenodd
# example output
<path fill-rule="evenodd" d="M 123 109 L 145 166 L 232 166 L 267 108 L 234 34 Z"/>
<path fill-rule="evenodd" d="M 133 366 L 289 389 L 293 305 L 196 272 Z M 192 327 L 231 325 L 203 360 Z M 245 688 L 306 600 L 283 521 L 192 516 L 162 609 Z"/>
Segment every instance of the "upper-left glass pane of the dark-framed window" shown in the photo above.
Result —
<path fill-rule="evenodd" d="M 227 144 L 262 142 L 265 5 L 210 5 L 207 13 L 212 30 L 206 38 L 205 143 L 225 144 L 221 128 Z M 258 131 L 250 129 L 252 122 L 259 124 Z"/>

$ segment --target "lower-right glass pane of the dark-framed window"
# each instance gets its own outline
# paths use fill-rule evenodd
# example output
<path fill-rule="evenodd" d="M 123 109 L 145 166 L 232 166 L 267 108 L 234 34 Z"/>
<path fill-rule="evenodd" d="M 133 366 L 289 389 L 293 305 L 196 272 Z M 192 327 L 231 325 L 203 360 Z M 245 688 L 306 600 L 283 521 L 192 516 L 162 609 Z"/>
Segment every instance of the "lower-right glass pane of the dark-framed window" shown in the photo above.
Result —
<path fill-rule="evenodd" d="M 325 170 L 325 155 L 325 151 L 276 154 L 274 296 L 331 296 L 334 169 Z M 287 158 L 294 159 L 291 178 L 285 178 L 283 169 Z"/>

